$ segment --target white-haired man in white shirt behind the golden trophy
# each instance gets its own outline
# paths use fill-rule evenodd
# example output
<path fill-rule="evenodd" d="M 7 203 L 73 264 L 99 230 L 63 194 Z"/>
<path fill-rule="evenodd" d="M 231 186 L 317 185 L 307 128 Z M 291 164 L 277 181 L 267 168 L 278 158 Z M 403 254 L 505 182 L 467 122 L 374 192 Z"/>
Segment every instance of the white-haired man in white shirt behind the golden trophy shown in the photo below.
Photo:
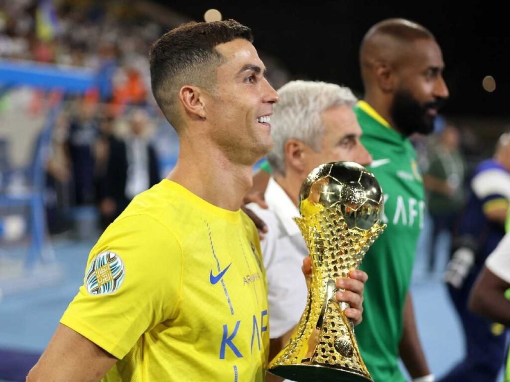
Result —
<path fill-rule="evenodd" d="M 362 131 L 352 111 L 356 97 L 348 88 L 323 82 L 291 81 L 279 89 L 278 95 L 280 102 L 274 105 L 271 117 L 274 148 L 267 157 L 273 170 L 265 192 L 269 209 L 250 205 L 269 228 L 261 246 L 271 312 L 270 359 L 292 334 L 307 299 L 301 265 L 308 249 L 292 220 L 299 215 L 297 205 L 302 182 L 310 171 L 325 162 L 350 160 L 361 165 L 371 162 L 370 154 L 360 142 Z M 342 279 L 337 285 L 348 289 L 343 292 L 343 299 L 359 307 L 359 310 L 345 311 L 347 317 L 359 323 L 360 292 L 367 275 L 357 270 L 350 276 L 351 279 Z M 268 375 L 267 380 L 281 379 Z"/>

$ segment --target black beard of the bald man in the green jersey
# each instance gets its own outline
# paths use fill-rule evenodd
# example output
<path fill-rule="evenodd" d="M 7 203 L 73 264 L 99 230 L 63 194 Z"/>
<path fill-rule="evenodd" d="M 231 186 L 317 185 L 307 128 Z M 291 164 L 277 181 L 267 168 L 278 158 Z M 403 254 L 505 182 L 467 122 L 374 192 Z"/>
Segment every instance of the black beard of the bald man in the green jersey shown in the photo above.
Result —
<path fill-rule="evenodd" d="M 395 123 L 393 127 L 405 137 L 415 132 L 430 134 L 434 131 L 436 117 L 427 114 L 427 109 L 433 107 L 438 110 L 443 102 L 444 100 L 439 98 L 435 102 L 420 105 L 409 91 L 399 90 L 393 98 L 390 109 L 391 118 Z"/>

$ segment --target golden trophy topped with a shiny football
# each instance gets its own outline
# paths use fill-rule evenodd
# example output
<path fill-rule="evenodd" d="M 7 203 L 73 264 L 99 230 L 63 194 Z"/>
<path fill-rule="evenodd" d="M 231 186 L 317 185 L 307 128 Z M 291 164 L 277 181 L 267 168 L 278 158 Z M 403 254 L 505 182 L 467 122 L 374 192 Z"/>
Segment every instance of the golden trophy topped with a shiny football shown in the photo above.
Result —
<path fill-rule="evenodd" d="M 312 259 L 307 306 L 269 372 L 294 381 L 373 381 L 353 324 L 335 299 L 336 280 L 349 277 L 386 227 L 374 175 L 354 162 L 325 163 L 301 186 L 296 221 Z"/>

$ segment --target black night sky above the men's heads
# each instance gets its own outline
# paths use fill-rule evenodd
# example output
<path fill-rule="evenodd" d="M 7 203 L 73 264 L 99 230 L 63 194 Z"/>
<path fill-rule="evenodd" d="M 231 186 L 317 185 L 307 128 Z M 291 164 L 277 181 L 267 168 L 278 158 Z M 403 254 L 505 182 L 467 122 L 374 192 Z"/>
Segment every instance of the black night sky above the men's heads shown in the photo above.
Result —
<path fill-rule="evenodd" d="M 510 18 L 503 6 L 352 0 L 312 4 L 197 0 L 171 8 L 196 21 L 203 21 L 207 9 L 216 8 L 223 19 L 234 18 L 250 26 L 256 48 L 278 58 L 294 78 L 331 81 L 358 94 L 363 90 L 358 48 L 365 32 L 388 17 L 409 18 L 435 34 L 443 49 L 444 76 L 450 89 L 450 100 L 443 109 L 446 115 L 510 115 L 506 106 L 510 99 Z M 493 93 L 481 86 L 486 75 L 496 80 Z"/>

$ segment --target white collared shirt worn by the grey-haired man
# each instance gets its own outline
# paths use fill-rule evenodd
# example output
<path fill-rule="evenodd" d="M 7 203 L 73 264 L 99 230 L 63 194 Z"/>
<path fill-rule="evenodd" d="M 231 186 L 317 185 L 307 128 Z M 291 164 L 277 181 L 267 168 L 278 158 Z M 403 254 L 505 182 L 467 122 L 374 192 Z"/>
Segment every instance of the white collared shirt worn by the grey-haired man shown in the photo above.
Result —
<path fill-rule="evenodd" d="M 308 288 L 301 266 L 308 249 L 292 220 L 299 216 L 299 210 L 273 178 L 265 199 L 269 209 L 254 203 L 247 207 L 268 227 L 261 248 L 268 287 L 269 335 L 278 338 L 298 323 L 307 305 Z"/>

